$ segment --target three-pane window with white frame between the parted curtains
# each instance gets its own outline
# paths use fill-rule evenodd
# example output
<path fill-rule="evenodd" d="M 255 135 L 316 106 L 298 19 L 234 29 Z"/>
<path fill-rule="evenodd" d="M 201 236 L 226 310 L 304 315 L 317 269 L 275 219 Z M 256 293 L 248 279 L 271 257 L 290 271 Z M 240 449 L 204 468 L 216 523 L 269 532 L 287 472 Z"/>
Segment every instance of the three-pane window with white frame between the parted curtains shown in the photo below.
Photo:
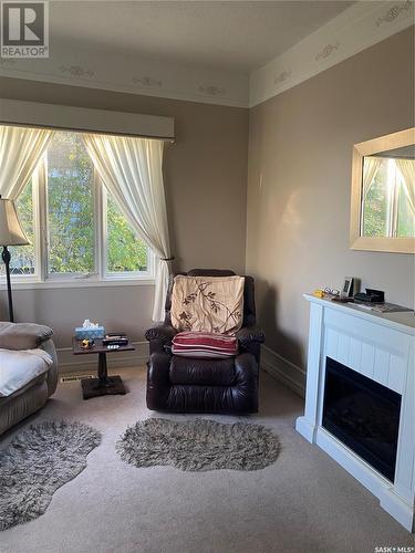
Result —
<path fill-rule="evenodd" d="M 31 242 L 10 248 L 20 281 L 153 276 L 152 252 L 106 191 L 80 133 L 54 134 L 15 206 Z"/>

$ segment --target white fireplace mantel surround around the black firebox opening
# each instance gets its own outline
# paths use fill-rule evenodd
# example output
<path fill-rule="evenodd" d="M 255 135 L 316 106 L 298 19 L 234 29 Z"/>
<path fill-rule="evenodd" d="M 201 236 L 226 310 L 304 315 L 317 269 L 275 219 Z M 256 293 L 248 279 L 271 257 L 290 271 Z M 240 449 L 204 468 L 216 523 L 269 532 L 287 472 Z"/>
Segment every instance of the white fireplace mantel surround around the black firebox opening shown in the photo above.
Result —
<path fill-rule="evenodd" d="M 378 314 L 304 294 L 310 302 L 305 410 L 297 430 L 317 444 L 409 532 L 415 530 L 415 317 Z M 401 394 L 394 483 L 322 427 L 325 358 L 331 357 Z"/>

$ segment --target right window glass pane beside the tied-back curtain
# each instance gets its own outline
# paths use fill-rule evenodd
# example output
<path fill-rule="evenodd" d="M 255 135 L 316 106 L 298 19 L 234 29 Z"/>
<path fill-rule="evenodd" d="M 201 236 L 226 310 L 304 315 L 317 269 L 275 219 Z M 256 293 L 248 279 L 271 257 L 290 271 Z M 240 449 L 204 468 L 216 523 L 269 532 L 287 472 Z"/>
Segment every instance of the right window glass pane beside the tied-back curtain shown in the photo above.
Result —
<path fill-rule="evenodd" d="M 136 238 L 117 204 L 107 198 L 107 272 L 147 270 L 147 246 Z"/>

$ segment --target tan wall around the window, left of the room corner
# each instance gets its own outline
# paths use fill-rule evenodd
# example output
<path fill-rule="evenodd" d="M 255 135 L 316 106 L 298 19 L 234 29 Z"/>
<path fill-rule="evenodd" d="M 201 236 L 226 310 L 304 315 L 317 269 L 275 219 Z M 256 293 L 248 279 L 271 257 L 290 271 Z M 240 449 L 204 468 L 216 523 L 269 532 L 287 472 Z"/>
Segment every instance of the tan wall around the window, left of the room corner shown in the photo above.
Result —
<path fill-rule="evenodd" d="M 177 139 L 167 146 L 165 185 L 176 268 L 243 271 L 247 109 L 14 79 L 0 80 L 0 96 L 174 117 Z M 114 286 L 17 290 L 13 298 L 17 320 L 50 324 L 64 347 L 85 316 L 142 340 L 153 293 L 153 286 Z M 0 319 L 7 316 L 4 307 L 2 294 Z"/>

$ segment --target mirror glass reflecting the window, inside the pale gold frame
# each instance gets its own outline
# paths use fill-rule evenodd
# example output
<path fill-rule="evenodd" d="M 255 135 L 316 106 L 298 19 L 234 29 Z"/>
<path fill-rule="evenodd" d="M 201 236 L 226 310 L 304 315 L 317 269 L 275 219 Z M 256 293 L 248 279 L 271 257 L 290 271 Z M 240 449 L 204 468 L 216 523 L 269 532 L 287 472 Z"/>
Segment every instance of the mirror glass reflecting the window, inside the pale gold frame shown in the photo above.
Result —
<path fill-rule="evenodd" d="M 360 236 L 415 237 L 415 147 L 363 157 Z"/>

